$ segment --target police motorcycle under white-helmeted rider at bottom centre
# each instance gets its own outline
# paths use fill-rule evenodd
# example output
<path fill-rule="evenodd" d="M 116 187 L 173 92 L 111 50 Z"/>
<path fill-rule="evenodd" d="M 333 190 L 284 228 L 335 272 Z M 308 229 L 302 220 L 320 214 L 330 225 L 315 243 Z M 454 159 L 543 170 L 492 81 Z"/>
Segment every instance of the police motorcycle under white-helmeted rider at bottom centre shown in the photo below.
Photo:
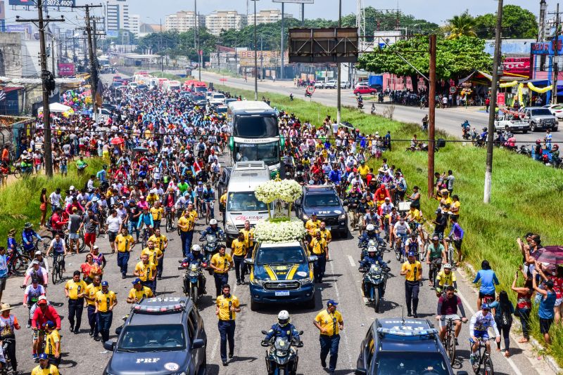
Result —
<path fill-rule="evenodd" d="M 262 331 L 262 334 L 267 334 L 267 331 Z M 303 331 L 299 332 L 301 336 Z M 291 339 L 288 341 L 286 338 L 277 337 L 275 341 L 262 340 L 262 346 L 265 348 L 270 347 L 266 351 L 266 369 L 268 374 L 273 375 L 295 375 L 297 372 L 297 364 L 299 362 L 298 350 L 295 348 L 302 348 L 303 341 L 296 341 Z M 272 368 L 272 364 L 274 368 Z"/>

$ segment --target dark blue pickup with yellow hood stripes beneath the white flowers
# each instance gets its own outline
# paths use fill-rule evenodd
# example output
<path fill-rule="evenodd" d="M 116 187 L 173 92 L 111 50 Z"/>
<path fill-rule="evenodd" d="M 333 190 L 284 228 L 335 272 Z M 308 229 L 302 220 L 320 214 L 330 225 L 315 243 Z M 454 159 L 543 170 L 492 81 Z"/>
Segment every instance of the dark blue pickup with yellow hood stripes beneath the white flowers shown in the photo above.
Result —
<path fill-rule="evenodd" d="M 315 308 L 313 265 L 317 256 L 309 256 L 303 241 L 258 242 L 252 258 L 244 263 L 250 268 L 251 310 L 262 304 L 303 304 Z"/>

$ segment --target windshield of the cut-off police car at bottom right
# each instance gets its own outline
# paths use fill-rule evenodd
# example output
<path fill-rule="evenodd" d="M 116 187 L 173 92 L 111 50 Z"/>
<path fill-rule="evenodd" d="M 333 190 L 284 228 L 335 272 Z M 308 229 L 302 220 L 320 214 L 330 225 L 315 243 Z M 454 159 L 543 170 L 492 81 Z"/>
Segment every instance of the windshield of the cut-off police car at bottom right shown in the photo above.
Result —
<path fill-rule="evenodd" d="M 378 375 L 448 375 L 440 353 L 380 352 L 375 362 Z"/>

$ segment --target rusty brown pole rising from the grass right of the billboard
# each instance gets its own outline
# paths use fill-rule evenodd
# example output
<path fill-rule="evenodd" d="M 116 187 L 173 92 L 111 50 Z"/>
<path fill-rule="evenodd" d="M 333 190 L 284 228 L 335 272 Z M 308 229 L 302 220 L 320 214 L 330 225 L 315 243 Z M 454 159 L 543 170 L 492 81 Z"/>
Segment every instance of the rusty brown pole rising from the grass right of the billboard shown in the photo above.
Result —
<path fill-rule="evenodd" d="M 430 88 L 428 91 L 428 197 L 434 192 L 434 129 L 436 129 L 436 34 L 429 36 Z"/>

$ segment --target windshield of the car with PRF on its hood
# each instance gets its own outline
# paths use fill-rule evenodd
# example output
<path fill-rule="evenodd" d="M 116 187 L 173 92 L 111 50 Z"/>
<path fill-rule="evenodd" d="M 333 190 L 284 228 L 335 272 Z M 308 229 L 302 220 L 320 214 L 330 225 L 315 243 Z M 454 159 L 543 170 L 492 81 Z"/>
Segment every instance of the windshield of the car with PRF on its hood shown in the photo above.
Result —
<path fill-rule="evenodd" d="M 186 349 L 182 324 L 127 326 L 123 330 L 118 350 L 136 352 L 176 351 Z"/>

